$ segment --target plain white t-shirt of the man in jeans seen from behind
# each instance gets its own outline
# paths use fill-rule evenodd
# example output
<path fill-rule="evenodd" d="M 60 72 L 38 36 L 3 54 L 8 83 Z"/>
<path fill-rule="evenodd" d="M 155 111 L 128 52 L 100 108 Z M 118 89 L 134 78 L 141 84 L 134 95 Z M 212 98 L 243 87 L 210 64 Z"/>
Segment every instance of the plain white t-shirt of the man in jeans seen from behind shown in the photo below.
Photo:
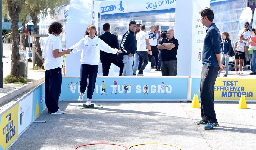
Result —
<path fill-rule="evenodd" d="M 146 32 L 144 31 L 139 31 L 136 35 L 136 40 L 137 40 L 137 51 L 147 51 L 146 49 L 146 39 L 149 39 L 149 36 Z"/>

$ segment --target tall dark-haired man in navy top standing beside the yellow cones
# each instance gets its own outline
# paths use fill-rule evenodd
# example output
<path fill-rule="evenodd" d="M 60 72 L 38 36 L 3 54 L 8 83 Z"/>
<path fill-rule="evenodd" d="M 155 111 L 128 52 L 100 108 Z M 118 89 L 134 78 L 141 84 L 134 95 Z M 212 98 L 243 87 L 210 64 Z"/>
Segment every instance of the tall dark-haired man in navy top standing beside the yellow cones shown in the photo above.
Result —
<path fill-rule="evenodd" d="M 199 13 L 201 22 L 208 27 L 204 37 L 202 51 L 203 68 L 201 73 L 200 97 L 202 120 L 196 122 L 204 125 L 204 129 L 212 129 L 219 126 L 214 110 L 214 84 L 218 70 L 226 70 L 221 63 L 220 31 L 213 23 L 213 11 L 206 7 Z"/>

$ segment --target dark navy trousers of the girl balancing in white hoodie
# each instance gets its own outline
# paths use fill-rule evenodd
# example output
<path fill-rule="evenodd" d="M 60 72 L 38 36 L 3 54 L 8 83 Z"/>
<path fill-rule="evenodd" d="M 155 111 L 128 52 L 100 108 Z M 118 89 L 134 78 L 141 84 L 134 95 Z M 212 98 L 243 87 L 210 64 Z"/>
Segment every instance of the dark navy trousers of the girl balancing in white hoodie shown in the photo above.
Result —
<path fill-rule="evenodd" d="M 87 89 L 87 98 L 92 99 L 95 88 L 96 78 L 98 74 L 99 65 L 85 65 L 81 64 L 80 68 L 80 92 L 84 93 L 87 87 L 87 79 L 89 78 L 89 86 Z"/>

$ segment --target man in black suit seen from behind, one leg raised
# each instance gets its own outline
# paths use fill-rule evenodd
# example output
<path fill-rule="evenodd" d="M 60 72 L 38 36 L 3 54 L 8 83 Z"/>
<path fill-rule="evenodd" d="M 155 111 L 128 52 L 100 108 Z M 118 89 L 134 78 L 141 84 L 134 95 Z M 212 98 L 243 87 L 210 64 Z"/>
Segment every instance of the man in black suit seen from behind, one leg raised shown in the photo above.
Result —
<path fill-rule="evenodd" d="M 103 25 L 103 31 L 105 33 L 100 35 L 99 38 L 101 40 L 103 40 L 105 43 L 107 43 L 108 46 L 110 46 L 112 48 L 119 49 L 117 36 L 110 33 L 110 25 L 108 23 L 105 23 Z M 100 60 L 101 60 L 101 63 L 102 63 L 103 76 L 108 76 L 108 72 L 109 72 L 111 63 L 113 63 L 114 65 L 116 65 L 120 68 L 119 69 L 119 76 L 122 75 L 122 73 L 123 73 L 123 63 L 118 62 L 117 58 L 118 58 L 117 54 L 106 53 L 104 51 L 100 51 Z"/>

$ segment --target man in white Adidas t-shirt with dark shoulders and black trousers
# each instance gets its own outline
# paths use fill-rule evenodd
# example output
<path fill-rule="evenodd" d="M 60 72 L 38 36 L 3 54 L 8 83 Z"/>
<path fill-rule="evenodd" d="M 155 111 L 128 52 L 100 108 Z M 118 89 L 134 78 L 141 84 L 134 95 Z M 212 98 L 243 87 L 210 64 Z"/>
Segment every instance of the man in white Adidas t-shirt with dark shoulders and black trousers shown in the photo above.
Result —
<path fill-rule="evenodd" d="M 149 43 L 152 51 L 152 55 L 148 55 L 148 59 L 151 62 L 152 56 L 155 58 L 155 66 L 158 63 L 158 48 L 157 48 L 157 36 L 155 33 L 155 25 L 150 25 L 150 31 L 148 31 Z"/>

